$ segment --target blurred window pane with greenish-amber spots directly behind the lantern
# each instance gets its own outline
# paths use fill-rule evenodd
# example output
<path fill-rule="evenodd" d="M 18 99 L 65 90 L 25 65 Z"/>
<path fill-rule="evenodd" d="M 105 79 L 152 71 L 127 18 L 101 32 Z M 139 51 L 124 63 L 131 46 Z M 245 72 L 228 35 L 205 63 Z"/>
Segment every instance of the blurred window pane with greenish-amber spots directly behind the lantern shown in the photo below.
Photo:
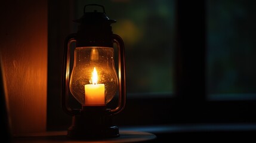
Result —
<path fill-rule="evenodd" d="M 76 1 L 76 18 L 85 4 L 103 5 L 117 21 L 112 29 L 125 43 L 127 92 L 171 92 L 174 1 Z"/>

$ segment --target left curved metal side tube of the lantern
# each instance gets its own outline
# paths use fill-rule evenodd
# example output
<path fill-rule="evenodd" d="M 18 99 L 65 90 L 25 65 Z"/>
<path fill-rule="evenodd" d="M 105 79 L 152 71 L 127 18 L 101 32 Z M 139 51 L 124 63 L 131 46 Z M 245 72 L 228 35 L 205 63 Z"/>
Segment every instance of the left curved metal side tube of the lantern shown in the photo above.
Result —
<path fill-rule="evenodd" d="M 70 44 L 76 42 L 76 33 L 70 34 L 66 37 L 64 42 L 63 52 L 63 73 L 62 87 L 61 87 L 61 106 L 67 114 L 76 115 L 79 114 L 79 110 L 72 109 L 69 106 L 69 64 L 70 64 Z"/>

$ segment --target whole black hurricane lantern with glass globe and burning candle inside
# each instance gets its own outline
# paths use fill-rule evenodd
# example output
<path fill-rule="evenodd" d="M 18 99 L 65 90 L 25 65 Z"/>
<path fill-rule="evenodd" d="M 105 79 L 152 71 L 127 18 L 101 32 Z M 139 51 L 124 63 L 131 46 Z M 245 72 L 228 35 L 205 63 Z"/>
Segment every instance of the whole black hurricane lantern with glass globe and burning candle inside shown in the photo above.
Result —
<path fill-rule="evenodd" d="M 88 7 L 97 7 L 102 11 L 86 12 Z M 103 5 L 85 5 L 84 15 L 74 21 L 79 23 L 78 32 L 67 36 L 63 54 L 61 105 L 72 116 L 67 136 L 118 137 L 119 128 L 113 117 L 125 107 L 124 42 L 120 36 L 113 34 L 110 24 L 116 21 L 106 16 Z M 75 48 L 72 48 L 72 43 L 75 43 Z M 114 43 L 117 48 L 114 48 Z M 118 69 L 115 67 L 115 53 L 118 54 Z M 81 108 L 70 105 L 72 96 Z M 118 98 L 116 105 L 107 107 L 115 96 Z"/>

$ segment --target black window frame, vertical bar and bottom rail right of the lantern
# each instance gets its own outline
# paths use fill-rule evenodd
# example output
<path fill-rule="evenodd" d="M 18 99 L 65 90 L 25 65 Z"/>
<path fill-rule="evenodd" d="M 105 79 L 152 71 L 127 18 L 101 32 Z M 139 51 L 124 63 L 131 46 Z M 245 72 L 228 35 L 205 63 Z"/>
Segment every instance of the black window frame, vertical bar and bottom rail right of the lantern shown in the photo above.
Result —
<path fill-rule="evenodd" d="M 128 97 L 124 125 L 255 123 L 256 100 L 209 100 L 206 93 L 206 1 L 176 1 L 173 95 Z M 190 21 L 193 17 L 193 21 Z M 149 110 L 145 110 L 149 109 Z M 140 114 L 143 113 L 144 116 Z"/>

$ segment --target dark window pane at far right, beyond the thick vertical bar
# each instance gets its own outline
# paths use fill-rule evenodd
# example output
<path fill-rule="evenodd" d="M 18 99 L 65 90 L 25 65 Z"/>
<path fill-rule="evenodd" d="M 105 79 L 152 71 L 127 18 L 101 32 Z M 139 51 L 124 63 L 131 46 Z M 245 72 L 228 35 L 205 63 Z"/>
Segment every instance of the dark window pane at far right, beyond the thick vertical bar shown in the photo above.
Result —
<path fill-rule="evenodd" d="M 256 1 L 208 0 L 208 97 L 220 100 L 256 96 Z"/>

